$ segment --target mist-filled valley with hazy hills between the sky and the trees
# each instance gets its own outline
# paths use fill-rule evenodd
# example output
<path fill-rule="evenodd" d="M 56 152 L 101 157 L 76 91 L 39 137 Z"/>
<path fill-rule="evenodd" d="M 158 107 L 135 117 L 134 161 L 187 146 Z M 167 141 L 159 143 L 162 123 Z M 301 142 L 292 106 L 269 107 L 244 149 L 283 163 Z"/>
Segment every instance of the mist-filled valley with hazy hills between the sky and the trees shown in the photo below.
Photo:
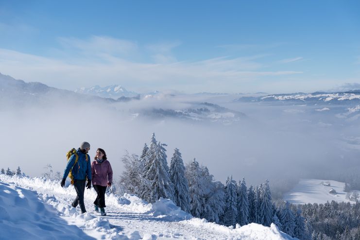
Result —
<path fill-rule="evenodd" d="M 340 178 L 360 167 L 358 91 L 286 98 L 154 91 L 112 98 L 5 75 L 0 89 L 4 167 L 21 166 L 31 176 L 41 175 L 47 164 L 62 171 L 65 153 L 88 141 L 90 156 L 103 148 L 118 177 L 125 151 L 141 154 L 152 133 L 168 145 L 168 162 L 178 148 L 185 163 L 196 158 L 222 182 L 228 175 L 253 185 L 265 179 Z"/>

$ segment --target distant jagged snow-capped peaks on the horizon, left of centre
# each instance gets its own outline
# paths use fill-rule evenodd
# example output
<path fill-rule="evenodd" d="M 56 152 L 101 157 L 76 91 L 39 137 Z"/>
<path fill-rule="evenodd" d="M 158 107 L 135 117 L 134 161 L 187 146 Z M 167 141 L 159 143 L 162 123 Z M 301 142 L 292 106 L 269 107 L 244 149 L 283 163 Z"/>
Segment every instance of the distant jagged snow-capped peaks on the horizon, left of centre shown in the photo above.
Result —
<path fill-rule="evenodd" d="M 136 92 L 128 91 L 120 85 L 81 87 L 76 89 L 75 92 L 113 99 L 118 99 L 120 97 L 135 97 L 138 95 Z"/>

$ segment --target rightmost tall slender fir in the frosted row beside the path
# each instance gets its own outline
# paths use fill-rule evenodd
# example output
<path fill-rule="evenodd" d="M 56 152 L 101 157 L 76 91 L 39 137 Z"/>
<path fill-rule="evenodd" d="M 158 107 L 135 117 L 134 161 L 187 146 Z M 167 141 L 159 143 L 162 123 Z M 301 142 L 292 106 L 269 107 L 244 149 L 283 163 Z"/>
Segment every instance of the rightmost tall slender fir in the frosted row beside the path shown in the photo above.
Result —
<path fill-rule="evenodd" d="M 264 226 L 270 226 L 270 224 L 273 222 L 273 204 L 271 202 L 271 192 L 269 187 L 269 181 L 266 180 L 265 184 L 262 186 L 261 192 L 260 192 L 260 199 L 261 199 L 261 205 L 260 205 L 260 223 Z"/>

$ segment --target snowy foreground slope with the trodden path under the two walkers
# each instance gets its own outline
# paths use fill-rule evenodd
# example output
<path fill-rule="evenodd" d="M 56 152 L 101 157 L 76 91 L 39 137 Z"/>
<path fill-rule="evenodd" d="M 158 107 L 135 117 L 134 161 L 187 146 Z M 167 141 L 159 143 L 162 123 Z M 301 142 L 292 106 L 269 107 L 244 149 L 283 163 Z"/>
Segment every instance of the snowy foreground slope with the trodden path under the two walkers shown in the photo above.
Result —
<path fill-rule="evenodd" d="M 272 224 L 235 229 L 192 218 L 170 200 L 147 204 L 132 194 L 106 196 L 107 216 L 93 212 L 96 193 L 86 189 L 87 213 L 70 206 L 75 190 L 44 178 L 0 174 L 0 239 L 241 239 L 291 240 Z"/>

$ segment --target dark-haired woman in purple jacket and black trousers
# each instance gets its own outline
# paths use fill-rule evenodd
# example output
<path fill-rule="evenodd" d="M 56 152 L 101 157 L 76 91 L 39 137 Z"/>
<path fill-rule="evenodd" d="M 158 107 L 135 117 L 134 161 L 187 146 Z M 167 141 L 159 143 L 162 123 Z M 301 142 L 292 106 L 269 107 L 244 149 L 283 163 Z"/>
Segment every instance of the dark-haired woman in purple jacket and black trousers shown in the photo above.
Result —
<path fill-rule="evenodd" d="M 91 163 L 92 185 L 98 196 L 94 201 L 95 211 L 100 212 L 102 216 L 105 213 L 105 191 L 106 187 L 111 187 L 113 181 L 113 170 L 110 162 L 106 158 L 106 153 L 103 149 L 98 148 L 96 151 L 95 160 Z"/>

